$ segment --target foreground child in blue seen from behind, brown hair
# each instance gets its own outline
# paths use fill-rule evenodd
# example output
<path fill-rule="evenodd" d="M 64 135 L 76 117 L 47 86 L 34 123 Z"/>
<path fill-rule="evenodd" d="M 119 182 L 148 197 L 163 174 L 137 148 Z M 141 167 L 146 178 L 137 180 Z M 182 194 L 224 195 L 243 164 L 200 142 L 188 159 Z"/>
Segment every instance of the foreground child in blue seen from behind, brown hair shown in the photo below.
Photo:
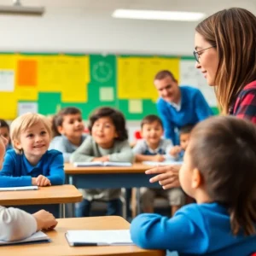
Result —
<path fill-rule="evenodd" d="M 196 203 L 173 218 L 141 214 L 131 239 L 179 255 L 250 255 L 256 252 L 256 127 L 218 116 L 195 126 L 179 180 Z"/>

